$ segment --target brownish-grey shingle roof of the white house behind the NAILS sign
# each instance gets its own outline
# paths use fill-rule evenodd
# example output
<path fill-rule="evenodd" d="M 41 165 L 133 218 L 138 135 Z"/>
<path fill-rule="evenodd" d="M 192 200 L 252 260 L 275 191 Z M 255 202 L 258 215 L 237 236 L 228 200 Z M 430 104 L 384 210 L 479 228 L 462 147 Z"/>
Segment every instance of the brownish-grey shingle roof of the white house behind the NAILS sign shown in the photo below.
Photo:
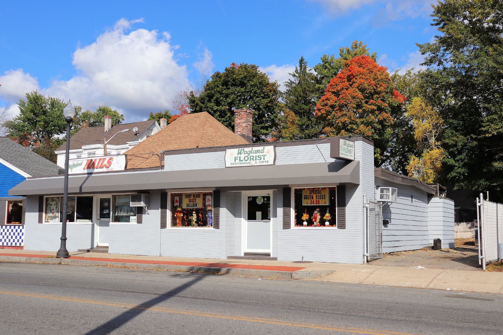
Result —
<path fill-rule="evenodd" d="M 133 123 L 126 123 L 121 125 L 112 126 L 112 129 L 105 132 L 105 127 L 88 127 L 82 128 L 75 135 L 70 138 L 70 150 L 80 149 L 82 146 L 89 144 L 98 144 L 103 141 L 103 138 L 107 140 L 114 136 L 117 132 L 124 129 L 129 129 L 129 132 L 117 134 L 112 141 L 108 142 L 108 145 L 122 145 L 127 142 L 134 141 L 136 138 L 133 132 L 134 127 L 138 127 L 138 133 L 142 133 L 148 128 L 155 120 L 147 120 Z M 62 144 L 57 150 L 66 150 L 66 144 Z"/>

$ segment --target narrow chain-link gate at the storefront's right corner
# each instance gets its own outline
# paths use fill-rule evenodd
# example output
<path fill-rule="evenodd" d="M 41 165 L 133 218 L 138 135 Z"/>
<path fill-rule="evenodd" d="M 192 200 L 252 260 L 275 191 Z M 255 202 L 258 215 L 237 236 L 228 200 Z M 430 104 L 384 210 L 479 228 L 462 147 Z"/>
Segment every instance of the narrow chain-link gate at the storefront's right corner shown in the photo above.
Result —
<path fill-rule="evenodd" d="M 368 260 L 382 258 L 382 203 L 367 204 L 367 250 Z"/>

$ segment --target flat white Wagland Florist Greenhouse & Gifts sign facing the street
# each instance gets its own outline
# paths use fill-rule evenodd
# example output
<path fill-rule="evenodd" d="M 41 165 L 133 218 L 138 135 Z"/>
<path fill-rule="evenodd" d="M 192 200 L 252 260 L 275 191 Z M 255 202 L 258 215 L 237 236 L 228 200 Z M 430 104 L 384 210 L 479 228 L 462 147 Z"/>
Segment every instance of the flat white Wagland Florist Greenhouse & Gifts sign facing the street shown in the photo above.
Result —
<path fill-rule="evenodd" d="M 274 164 L 274 146 L 227 149 L 225 167 Z"/>

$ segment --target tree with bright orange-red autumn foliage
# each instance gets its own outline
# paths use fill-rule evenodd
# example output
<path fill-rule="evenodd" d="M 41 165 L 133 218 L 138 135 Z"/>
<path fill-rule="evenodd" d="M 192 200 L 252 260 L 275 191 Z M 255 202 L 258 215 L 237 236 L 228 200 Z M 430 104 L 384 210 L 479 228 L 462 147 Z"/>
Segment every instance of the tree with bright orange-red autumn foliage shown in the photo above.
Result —
<path fill-rule="evenodd" d="M 374 141 L 374 161 L 381 166 L 393 141 L 394 120 L 403 115 L 403 101 L 386 67 L 357 56 L 328 83 L 315 117 L 326 136 L 363 135 Z"/>

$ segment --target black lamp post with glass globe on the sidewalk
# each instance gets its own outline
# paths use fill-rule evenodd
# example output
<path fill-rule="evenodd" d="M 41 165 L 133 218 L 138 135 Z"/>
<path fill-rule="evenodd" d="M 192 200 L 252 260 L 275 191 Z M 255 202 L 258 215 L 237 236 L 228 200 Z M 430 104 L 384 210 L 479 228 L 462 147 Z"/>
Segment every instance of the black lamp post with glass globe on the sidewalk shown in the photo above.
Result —
<path fill-rule="evenodd" d="M 66 121 L 66 152 L 64 160 L 64 186 L 63 186 L 63 212 L 61 215 L 61 246 L 56 253 L 56 258 L 69 258 L 70 254 L 66 250 L 66 211 L 68 209 L 68 160 L 70 155 L 70 126 L 75 116 L 75 108 L 68 101 L 63 109 L 64 119 Z"/>

